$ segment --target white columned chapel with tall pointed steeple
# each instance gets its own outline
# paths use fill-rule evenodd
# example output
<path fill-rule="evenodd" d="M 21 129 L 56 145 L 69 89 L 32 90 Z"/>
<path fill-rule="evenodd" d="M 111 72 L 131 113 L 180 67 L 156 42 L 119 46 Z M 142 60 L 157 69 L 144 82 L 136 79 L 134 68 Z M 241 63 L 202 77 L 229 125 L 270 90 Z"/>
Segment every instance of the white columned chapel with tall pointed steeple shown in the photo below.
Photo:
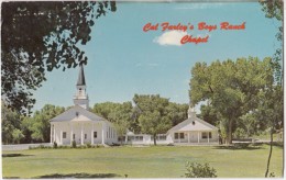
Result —
<path fill-rule="evenodd" d="M 58 145 L 77 145 L 87 143 L 112 144 L 118 142 L 116 128 L 112 123 L 89 111 L 89 99 L 86 92 L 84 67 L 79 67 L 74 97 L 74 106 L 52 119 L 51 143 Z"/>

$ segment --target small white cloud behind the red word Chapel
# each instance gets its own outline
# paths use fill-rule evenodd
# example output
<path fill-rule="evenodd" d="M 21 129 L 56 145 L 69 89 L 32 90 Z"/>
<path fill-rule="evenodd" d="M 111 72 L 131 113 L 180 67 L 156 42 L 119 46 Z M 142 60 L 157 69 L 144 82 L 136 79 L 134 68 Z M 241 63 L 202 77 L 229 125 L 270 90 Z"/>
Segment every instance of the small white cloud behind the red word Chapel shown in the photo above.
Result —
<path fill-rule="evenodd" d="M 158 43 L 160 45 L 174 45 L 182 46 L 180 40 L 183 36 L 187 35 L 187 32 L 183 31 L 168 31 L 163 33 L 161 36 L 155 37 L 153 40 L 154 43 Z"/>

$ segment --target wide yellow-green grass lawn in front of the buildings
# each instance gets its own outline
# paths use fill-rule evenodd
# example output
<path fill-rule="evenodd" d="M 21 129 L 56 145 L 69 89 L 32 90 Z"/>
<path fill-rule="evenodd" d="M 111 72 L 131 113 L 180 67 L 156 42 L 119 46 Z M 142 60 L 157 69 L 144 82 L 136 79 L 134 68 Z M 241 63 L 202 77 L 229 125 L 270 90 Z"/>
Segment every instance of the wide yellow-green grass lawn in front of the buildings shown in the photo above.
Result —
<path fill-rule="evenodd" d="M 185 162 L 209 162 L 219 178 L 264 177 L 270 146 L 151 146 L 3 151 L 6 178 L 180 178 Z M 275 146 L 270 172 L 282 177 L 283 147 Z"/>

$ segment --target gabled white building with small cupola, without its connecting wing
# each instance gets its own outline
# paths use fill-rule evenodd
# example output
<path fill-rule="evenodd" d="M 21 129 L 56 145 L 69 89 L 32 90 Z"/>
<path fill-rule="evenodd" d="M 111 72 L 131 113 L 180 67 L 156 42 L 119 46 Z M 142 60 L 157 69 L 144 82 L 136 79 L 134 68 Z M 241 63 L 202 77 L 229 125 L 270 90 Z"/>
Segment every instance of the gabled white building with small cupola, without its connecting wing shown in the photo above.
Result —
<path fill-rule="evenodd" d="M 196 116 L 189 108 L 188 119 L 167 132 L 167 139 L 174 143 L 210 144 L 219 143 L 218 128 Z"/>

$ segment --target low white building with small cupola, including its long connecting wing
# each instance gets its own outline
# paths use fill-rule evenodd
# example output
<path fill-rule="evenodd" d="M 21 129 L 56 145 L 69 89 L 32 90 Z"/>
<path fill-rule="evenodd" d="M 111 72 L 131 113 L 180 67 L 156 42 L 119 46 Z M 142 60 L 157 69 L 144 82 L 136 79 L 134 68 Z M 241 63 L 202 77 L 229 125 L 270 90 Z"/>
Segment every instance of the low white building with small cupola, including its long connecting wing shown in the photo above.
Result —
<path fill-rule="evenodd" d="M 154 139 L 148 134 L 134 134 L 129 132 L 124 144 L 152 145 Z M 189 108 L 188 119 L 172 127 L 166 134 L 158 134 L 157 144 L 218 144 L 218 128 L 196 116 L 194 109 Z"/>

